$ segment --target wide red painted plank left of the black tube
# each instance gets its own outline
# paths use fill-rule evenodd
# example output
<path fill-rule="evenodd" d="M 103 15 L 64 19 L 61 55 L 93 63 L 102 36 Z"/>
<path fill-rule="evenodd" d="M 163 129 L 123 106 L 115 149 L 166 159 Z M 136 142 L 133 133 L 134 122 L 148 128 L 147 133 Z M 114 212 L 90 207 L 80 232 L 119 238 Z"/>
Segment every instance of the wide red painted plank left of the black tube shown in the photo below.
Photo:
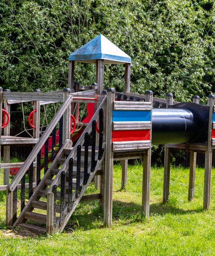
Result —
<path fill-rule="evenodd" d="M 113 131 L 112 142 L 149 141 L 150 130 Z"/>

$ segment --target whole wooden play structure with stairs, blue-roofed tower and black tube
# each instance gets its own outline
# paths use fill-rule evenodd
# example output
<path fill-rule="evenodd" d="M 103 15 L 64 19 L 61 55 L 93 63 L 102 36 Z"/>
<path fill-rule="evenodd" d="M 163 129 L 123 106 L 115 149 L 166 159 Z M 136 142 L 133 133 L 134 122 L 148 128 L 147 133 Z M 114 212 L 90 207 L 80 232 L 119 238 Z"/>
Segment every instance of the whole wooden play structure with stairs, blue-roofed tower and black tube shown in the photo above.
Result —
<path fill-rule="evenodd" d="M 75 62 L 95 64 L 96 83 L 91 86 L 74 83 Z M 209 208 L 211 154 L 215 147 L 214 96 L 209 95 L 208 106 L 200 106 L 198 97 L 194 97 L 194 103 L 177 104 L 171 94 L 167 94 L 164 100 L 154 98 L 150 90 L 145 95 L 131 93 L 130 63 L 129 56 L 99 35 L 69 55 L 67 89 L 17 93 L 0 88 L 0 115 L 3 113 L 4 117 L 5 114 L 1 125 L 3 135 L 0 137 L 0 145 L 4 147 L 4 162 L 0 164 L 4 169 L 4 184 L 0 190 L 6 190 L 6 225 L 18 225 L 36 234 L 62 231 L 80 201 L 99 199 L 104 225 L 110 226 L 113 160 L 121 161 L 123 188 L 128 159 L 143 159 L 142 212 L 148 217 L 151 145 L 156 142 L 165 144 L 163 203 L 169 194 L 170 150 L 176 149 L 191 152 L 189 200 L 194 194 L 196 152 L 205 153 L 203 207 Z M 113 88 L 103 90 L 104 64 L 125 65 L 123 93 L 116 93 Z M 24 101 L 33 105 L 33 136 L 12 137 L 9 132 L 9 106 Z M 61 105 L 41 135 L 40 106 L 53 102 Z M 84 119 L 87 120 L 85 123 L 82 120 L 83 129 L 74 142 L 72 133 L 74 126 L 81 122 L 79 104 L 83 103 L 93 104 L 93 113 Z M 170 120 L 168 127 L 180 122 L 177 125 L 178 136 L 175 136 L 176 128 L 166 130 L 166 119 Z M 159 131 L 168 133 L 172 141 L 160 140 Z M 10 163 L 9 147 L 27 144 L 32 145 L 32 151 L 25 162 Z M 20 169 L 9 183 L 9 170 L 14 167 Z M 99 187 L 99 193 L 86 195 L 84 192 L 92 180 Z M 17 191 L 20 191 L 20 201 L 17 201 Z"/>

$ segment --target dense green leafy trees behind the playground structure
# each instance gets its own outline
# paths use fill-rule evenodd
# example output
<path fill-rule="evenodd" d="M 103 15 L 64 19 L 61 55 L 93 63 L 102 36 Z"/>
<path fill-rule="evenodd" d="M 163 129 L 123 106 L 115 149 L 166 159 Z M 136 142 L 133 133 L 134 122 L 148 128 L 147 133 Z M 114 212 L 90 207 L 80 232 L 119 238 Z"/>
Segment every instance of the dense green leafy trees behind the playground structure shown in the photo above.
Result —
<path fill-rule="evenodd" d="M 215 88 L 214 6 L 207 0 L 2 0 L 0 85 L 67 87 L 68 55 L 103 34 L 131 57 L 133 92 L 204 100 Z M 94 82 L 94 65 L 77 63 L 75 80 Z M 123 81 L 123 65 L 105 67 L 105 87 L 122 91 Z"/>

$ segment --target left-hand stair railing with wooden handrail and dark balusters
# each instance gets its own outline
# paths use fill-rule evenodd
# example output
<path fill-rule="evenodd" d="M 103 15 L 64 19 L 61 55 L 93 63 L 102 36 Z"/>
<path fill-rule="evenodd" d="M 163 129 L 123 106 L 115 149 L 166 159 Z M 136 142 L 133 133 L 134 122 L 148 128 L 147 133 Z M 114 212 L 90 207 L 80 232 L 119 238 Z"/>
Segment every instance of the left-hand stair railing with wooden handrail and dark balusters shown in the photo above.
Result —
<path fill-rule="evenodd" d="M 68 92 L 65 92 L 65 96 L 67 96 Z M 47 126 L 47 129 L 39 139 L 38 143 L 35 145 L 33 148 L 31 154 L 27 157 L 26 161 L 23 163 L 21 166 L 20 170 L 12 180 L 12 182 L 7 185 L 7 196 L 6 196 L 6 224 L 7 225 L 12 225 L 12 223 L 16 219 L 16 203 L 17 203 L 17 188 L 21 189 L 21 210 L 24 207 L 24 200 L 25 200 L 25 173 L 27 170 L 29 171 L 29 197 L 33 193 L 33 176 L 36 176 L 36 182 L 39 183 L 39 177 L 40 177 L 40 172 L 38 166 L 37 166 L 37 174 L 33 174 L 33 162 L 37 158 L 37 162 L 40 163 L 40 150 L 42 146 L 47 142 L 49 136 L 52 134 L 53 137 L 55 136 L 55 127 L 57 123 L 61 123 L 59 125 L 59 148 L 62 145 L 63 141 L 68 139 L 70 137 L 70 134 L 68 131 L 70 131 L 70 126 L 69 126 L 69 116 L 70 111 L 68 110 L 70 108 L 72 101 L 72 95 L 68 95 L 64 102 L 62 103 L 61 107 L 55 114 L 54 118 L 51 120 L 50 124 Z M 62 120 L 63 117 L 63 120 Z M 55 141 L 53 138 L 52 140 Z M 52 152 L 54 152 L 54 145 L 52 145 Z M 52 155 L 52 158 L 54 156 Z M 19 184 L 21 182 L 21 185 Z"/>

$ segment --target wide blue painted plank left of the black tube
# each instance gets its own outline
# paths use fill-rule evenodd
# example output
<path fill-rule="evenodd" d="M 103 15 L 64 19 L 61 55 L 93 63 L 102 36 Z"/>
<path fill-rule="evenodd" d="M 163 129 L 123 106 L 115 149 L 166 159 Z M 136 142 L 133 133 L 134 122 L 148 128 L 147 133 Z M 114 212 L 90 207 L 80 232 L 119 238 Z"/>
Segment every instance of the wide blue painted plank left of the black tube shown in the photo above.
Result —
<path fill-rule="evenodd" d="M 151 111 L 113 110 L 112 120 L 114 122 L 150 121 Z"/>

